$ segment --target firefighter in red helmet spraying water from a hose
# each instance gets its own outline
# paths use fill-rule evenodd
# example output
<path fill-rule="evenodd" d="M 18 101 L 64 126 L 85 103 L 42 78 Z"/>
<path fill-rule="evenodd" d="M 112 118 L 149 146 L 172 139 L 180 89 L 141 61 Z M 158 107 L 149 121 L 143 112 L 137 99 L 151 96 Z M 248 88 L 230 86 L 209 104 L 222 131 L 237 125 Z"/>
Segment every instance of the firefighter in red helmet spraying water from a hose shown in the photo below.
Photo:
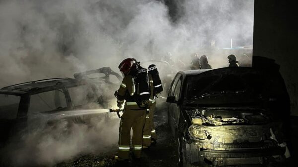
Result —
<path fill-rule="evenodd" d="M 141 157 L 142 132 L 145 123 L 146 108 L 141 108 L 137 103 L 140 97 L 136 93 L 137 63 L 135 59 L 127 58 L 118 66 L 121 73 L 124 75 L 117 93 L 117 106 L 121 108 L 124 105 L 119 126 L 119 150 L 115 156 L 118 162 L 127 162 L 129 159 L 131 128 L 133 129 L 133 155 L 137 159 Z"/>

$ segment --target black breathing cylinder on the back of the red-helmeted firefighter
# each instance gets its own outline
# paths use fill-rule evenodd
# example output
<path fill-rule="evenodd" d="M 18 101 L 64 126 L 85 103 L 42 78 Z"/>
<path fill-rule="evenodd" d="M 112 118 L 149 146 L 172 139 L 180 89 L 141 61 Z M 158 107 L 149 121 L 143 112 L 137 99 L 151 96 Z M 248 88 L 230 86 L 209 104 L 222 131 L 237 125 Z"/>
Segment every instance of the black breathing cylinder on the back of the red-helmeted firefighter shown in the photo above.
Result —
<path fill-rule="evenodd" d="M 138 75 L 137 75 L 137 83 L 138 83 L 138 94 L 140 96 L 140 100 L 149 100 L 150 98 L 150 89 L 149 89 L 149 80 L 147 69 L 139 67 Z"/>

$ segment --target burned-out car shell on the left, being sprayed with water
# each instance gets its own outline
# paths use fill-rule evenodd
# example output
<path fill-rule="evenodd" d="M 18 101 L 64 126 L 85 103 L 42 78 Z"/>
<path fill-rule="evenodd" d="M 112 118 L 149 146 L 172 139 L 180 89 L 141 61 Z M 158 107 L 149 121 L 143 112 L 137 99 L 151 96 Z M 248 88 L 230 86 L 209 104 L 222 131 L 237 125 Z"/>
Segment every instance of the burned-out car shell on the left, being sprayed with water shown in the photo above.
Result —
<path fill-rule="evenodd" d="M 90 74 L 100 77 L 88 77 Z M 108 67 L 74 74 L 75 78 L 50 78 L 11 85 L 0 89 L 0 143 L 18 139 L 36 126 L 57 121 L 88 123 L 90 117 L 118 118 L 108 108 L 116 106 L 110 90 L 122 78 Z"/>

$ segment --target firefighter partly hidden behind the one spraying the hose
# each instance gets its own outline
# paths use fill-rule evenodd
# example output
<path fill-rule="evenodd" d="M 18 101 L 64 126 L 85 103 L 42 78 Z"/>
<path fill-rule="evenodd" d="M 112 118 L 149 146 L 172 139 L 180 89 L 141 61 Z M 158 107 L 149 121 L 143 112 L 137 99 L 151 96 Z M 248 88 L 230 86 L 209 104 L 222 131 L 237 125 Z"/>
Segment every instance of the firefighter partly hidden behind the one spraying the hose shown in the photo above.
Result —
<path fill-rule="evenodd" d="M 156 130 L 153 121 L 154 111 L 156 107 L 156 95 L 163 91 L 162 83 L 159 78 L 156 65 L 152 64 L 148 67 L 150 82 L 150 99 L 149 112 L 146 114 L 145 125 L 143 129 L 143 148 L 148 148 L 152 143 L 156 144 Z"/>

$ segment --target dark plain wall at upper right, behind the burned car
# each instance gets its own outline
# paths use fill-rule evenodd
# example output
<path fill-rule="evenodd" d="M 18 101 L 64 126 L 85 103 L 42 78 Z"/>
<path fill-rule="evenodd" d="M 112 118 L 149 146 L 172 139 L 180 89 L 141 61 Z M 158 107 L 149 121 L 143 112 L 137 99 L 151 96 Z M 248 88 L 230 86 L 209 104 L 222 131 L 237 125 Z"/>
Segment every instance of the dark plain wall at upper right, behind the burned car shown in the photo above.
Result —
<path fill-rule="evenodd" d="M 275 59 L 298 116 L 297 10 L 289 0 L 255 0 L 253 55 Z"/>

